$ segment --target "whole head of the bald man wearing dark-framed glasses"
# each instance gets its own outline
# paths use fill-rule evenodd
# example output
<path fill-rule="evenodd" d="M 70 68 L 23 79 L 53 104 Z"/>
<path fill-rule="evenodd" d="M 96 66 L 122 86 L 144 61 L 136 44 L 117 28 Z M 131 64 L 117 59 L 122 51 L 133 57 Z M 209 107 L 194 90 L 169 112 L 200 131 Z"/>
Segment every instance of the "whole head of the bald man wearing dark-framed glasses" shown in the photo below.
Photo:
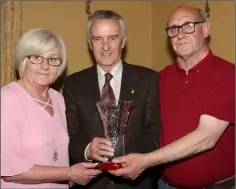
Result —
<path fill-rule="evenodd" d="M 198 8 L 179 6 L 167 21 L 166 32 L 178 57 L 187 60 L 206 49 L 210 24 Z"/>

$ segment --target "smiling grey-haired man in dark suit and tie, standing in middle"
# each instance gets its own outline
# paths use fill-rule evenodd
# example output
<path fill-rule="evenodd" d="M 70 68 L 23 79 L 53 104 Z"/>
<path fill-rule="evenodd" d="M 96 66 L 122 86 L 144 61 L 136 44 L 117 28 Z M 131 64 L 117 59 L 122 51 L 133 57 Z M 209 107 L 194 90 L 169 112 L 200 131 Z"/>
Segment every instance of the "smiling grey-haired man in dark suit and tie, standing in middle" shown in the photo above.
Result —
<path fill-rule="evenodd" d="M 85 160 L 105 162 L 113 155 L 96 108 L 107 82 L 106 73 L 111 75 L 109 86 L 114 97 L 132 101 L 125 137 L 126 153 L 151 152 L 159 147 L 158 76 L 153 70 L 121 60 L 125 41 L 125 24 L 119 14 L 99 10 L 90 17 L 88 42 L 96 65 L 68 76 L 63 88 L 71 164 Z M 147 170 L 139 179 L 130 181 L 103 172 L 86 188 L 151 189 L 151 176 Z"/>

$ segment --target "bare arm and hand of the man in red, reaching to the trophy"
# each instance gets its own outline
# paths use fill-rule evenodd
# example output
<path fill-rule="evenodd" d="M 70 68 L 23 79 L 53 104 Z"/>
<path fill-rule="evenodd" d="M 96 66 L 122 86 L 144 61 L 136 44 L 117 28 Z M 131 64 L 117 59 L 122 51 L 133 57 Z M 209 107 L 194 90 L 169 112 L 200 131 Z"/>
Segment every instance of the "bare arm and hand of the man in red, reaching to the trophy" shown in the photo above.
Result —
<path fill-rule="evenodd" d="M 129 154 L 114 159 L 114 162 L 123 163 L 124 168 L 110 171 L 110 173 L 135 179 L 148 167 L 173 162 L 210 150 L 216 145 L 228 125 L 227 121 L 202 115 L 197 129 L 175 142 L 151 153 Z"/>

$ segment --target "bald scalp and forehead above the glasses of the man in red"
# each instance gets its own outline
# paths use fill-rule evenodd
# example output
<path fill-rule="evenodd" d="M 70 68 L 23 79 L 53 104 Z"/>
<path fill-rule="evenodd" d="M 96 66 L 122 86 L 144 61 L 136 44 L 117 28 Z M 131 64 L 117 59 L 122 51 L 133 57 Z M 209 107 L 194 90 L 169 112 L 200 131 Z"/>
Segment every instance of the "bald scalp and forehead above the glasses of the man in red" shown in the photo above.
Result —
<path fill-rule="evenodd" d="M 205 21 L 205 16 L 204 16 L 201 9 L 181 5 L 177 8 L 175 8 L 171 12 L 171 14 L 167 20 L 167 27 L 169 26 L 169 24 L 172 20 L 178 19 L 179 17 L 191 17 L 193 20 Z"/>

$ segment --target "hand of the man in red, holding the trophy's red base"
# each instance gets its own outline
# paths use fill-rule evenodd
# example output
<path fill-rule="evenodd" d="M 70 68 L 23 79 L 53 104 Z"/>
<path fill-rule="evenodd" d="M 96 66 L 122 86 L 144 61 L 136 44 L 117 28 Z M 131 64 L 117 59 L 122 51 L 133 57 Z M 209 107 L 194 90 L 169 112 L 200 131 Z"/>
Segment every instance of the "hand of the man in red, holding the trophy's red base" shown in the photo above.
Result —
<path fill-rule="evenodd" d="M 115 158 L 112 161 L 122 163 L 123 168 L 109 171 L 109 173 L 134 180 L 147 168 L 145 157 L 144 154 L 133 153 Z"/>

